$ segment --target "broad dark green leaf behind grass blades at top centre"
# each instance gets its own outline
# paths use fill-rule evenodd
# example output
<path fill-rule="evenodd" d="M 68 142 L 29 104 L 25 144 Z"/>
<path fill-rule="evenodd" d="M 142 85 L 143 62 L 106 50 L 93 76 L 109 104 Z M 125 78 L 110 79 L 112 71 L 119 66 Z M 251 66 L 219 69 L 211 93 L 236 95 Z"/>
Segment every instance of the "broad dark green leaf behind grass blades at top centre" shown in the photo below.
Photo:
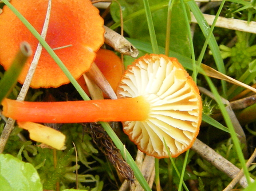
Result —
<path fill-rule="evenodd" d="M 124 31 L 127 32 L 130 38 L 140 39 L 143 42 L 150 43 L 151 39 L 149 36 L 143 1 L 121 0 L 119 2 L 123 11 Z M 163 3 L 161 0 L 149 0 L 149 5 L 157 43 L 159 46 L 165 47 L 168 1 L 167 3 Z M 111 14 L 114 21 L 119 23 L 120 10 L 115 2 L 113 2 L 113 5 L 111 6 Z M 188 31 L 186 30 L 186 26 L 184 26 L 185 18 L 180 3 L 175 4 L 172 8 L 171 18 L 173 19 L 171 19 L 170 50 L 190 57 Z"/>

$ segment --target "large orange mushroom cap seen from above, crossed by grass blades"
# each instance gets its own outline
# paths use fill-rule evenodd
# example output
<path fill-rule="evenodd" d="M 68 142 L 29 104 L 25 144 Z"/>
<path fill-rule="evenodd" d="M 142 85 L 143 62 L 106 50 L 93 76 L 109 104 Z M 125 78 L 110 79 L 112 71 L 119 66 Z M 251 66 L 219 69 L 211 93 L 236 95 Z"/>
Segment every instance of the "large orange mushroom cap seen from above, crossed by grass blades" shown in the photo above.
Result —
<path fill-rule="evenodd" d="M 12 0 L 11 3 L 41 33 L 48 0 Z M 96 57 L 95 52 L 104 43 L 103 25 L 99 10 L 89 0 L 52 1 L 46 42 L 52 48 L 72 44 L 55 52 L 74 78 L 89 70 Z M 3 7 L 0 15 L 0 29 L 0 36 L 3 36 L 0 40 L 0 64 L 8 70 L 19 44 L 26 40 L 36 50 L 38 40 L 7 6 Z M 31 60 L 27 61 L 18 79 L 20 83 L 26 78 Z M 31 87 L 58 87 L 66 83 L 69 83 L 69 79 L 43 49 Z"/>

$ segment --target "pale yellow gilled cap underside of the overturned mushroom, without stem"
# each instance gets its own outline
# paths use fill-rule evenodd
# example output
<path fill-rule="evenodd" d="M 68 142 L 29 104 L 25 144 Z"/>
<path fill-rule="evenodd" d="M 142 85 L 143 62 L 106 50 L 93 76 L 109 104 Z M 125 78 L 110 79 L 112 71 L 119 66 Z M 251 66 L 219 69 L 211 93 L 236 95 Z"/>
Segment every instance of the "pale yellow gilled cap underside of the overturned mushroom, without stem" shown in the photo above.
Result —
<path fill-rule="evenodd" d="M 124 132 L 140 151 L 160 159 L 168 157 L 167 148 L 176 157 L 192 147 L 202 120 L 202 101 L 176 58 L 145 55 L 128 67 L 117 96 L 141 95 L 151 105 L 148 119 L 123 122 Z"/>

